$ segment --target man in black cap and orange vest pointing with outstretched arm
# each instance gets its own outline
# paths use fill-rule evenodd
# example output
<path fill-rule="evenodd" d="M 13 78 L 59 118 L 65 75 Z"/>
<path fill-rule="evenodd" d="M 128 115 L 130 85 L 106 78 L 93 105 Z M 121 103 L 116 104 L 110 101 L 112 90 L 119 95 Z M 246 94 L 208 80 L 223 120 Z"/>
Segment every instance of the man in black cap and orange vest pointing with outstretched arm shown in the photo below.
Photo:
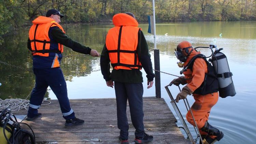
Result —
<path fill-rule="evenodd" d="M 67 93 L 67 84 L 60 69 L 63 45 L 75 52 L 99 56 L 96 50 L 86 47 L 69 38 L 59 25 L 61 15 L 55 9 L 48 10 L 46 16 L 39 16 L 32 21 L 29 30 L 28 49 L 33 55 L 33 72 L 35 86 L 31 92 L 27 120 L 42 116 L 38 109 L 42 104 L 47 87 L 50 86 L 56 95 L 65 126 L 81 125 L 84 120 L 75 117 L 71 109 Z"/>

